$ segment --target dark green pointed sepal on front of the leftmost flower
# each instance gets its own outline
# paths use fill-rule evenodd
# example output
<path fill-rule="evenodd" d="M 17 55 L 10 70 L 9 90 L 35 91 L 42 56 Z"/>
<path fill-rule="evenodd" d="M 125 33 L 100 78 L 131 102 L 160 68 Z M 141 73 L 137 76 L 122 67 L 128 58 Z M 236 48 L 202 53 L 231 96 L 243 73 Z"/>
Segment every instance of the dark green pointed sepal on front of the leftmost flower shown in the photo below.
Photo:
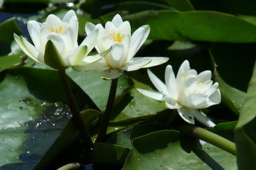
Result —
<path fill-rule="evenodd" d="M 65 69 L 67 67 L 60 56 L 60 52 L 58 52 L 57 47 L 55 47 L 51 40 L 48 40 L 46 43 L 46 50 L 43 58 L 44 62 L 53 69 Z"/>

